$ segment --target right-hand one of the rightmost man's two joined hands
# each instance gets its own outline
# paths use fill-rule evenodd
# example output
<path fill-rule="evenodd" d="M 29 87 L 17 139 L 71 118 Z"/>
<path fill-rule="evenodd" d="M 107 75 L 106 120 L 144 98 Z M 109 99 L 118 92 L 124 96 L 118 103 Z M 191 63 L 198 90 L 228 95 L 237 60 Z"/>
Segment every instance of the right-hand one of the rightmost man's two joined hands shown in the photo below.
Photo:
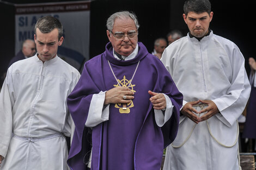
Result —
<path fill-rule="evenodd" d="M 208 104 L 208 107 L 201 110 L 199 114 L 202 114 L 203 112 L 207 112 L 205 115 L 198 118 L 199 122 L 206 121 L 210 117 L 214 116 L 218 112 L 220 112 L 214 102 L 212 100 L 199 100 L 201 103 Z"/>

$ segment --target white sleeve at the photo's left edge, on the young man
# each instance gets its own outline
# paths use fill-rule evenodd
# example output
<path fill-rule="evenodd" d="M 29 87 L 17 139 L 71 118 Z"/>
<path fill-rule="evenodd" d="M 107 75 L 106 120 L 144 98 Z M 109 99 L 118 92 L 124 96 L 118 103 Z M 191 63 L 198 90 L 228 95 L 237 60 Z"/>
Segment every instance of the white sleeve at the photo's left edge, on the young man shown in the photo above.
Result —
<path fill-rule="evenodd" d="M 0 92 L 0 155 L 3 157 L 7 155 L 11 133 L 13 131 L 12 108 L 14 105 L 14 89 L 9 70 Z"/>

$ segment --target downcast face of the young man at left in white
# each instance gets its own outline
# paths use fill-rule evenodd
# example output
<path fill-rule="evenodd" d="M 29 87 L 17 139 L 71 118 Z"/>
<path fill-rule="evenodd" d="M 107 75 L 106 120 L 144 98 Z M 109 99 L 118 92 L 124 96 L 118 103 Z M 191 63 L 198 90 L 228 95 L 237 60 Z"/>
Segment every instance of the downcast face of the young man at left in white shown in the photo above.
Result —
<path fill-rule="evenodd" d="M 53 29 L 50 33 L 41 33 L 36 28 L 35 44 L 38 52 L 38 58 L 42 61 L 48 61 L 56 57 L 58 46 L 62 45 L 63 36 L 58 40 L 58 29 Z"/>

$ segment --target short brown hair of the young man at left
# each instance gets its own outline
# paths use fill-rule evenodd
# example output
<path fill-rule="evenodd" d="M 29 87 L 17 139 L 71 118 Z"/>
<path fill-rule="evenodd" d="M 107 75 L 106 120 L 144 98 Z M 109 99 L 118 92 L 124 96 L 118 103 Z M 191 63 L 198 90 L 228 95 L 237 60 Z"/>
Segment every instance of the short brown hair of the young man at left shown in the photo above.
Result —
<path fill-rule="evenodd" d="M 45 16 L 42 18 L 39 18 L 39 20 L 35 24 L 35 37 L 36 37 L 36 28 L 40 30 L 42 33 L 50 33 L 53 29 L 58 29 L 58 39 L 62 37 L 63 34 L 63 27 L 62 23 L 57 18 L 54 18 L 52 16 Z"/>

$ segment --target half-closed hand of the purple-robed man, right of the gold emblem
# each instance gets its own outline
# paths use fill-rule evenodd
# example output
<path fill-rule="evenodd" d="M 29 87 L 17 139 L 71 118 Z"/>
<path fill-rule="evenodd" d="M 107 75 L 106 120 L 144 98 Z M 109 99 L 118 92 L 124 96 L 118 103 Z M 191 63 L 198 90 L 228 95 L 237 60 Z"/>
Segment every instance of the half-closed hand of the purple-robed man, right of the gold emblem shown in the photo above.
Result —
<path fill-rule="evenodd" d="M 166 98 L 162 93 L 155 93 L 149 90 L 150 102 L 153 104 L 153 108 L 156 110 L 161 110 L 166 108 Z"/>

